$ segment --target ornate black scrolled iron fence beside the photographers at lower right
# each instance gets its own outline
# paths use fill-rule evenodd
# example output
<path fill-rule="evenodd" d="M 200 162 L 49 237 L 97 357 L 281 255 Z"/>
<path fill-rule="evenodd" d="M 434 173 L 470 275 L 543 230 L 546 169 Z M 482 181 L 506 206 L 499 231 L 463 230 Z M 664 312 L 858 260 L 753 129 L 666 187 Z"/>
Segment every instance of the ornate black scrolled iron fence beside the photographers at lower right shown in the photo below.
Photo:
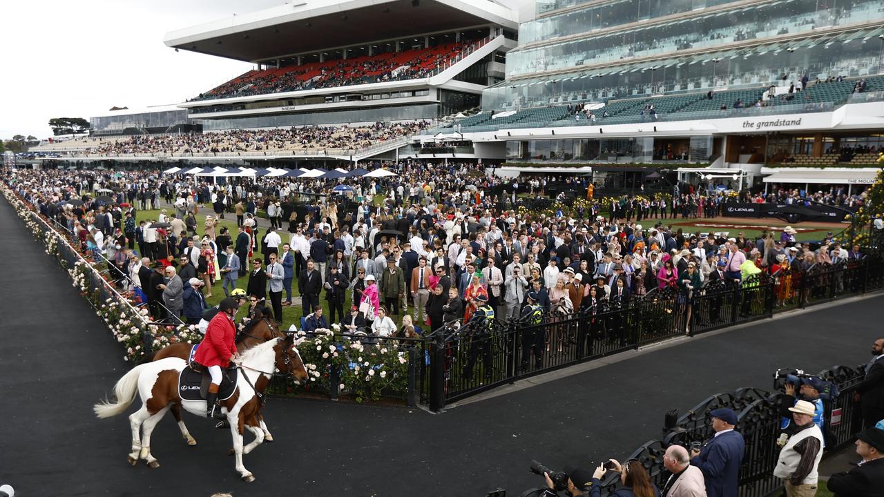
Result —
<path fill-rule="evenodd" d="M 853 440 L 862 427 L 857 404 L 853 401 L 854 388 L 863 378 L 862 366 L 850 368 L 836 366 L 819 372 L 818 376 L 839 387 L 840 394 L 834 401 L 825 401 L 826 452 L 824 457 L 836 453 Z M 638 447 L 629 459 L 636 459 L 648 470 L 652 481 L 662 487 L 669 472 L 663 466 L 663 454 L 672 444 L 690 447 L 691 442 L 705 442 L 713 437 L 709 412 L 719 408 L 734 409 L 738 423 L 736 431 L 743 435 L 746 448 L 740 467 L 739 495 L 741 497 L 764 497 L 781 488 L 782 482 L 773 476 L 773 468 L 780 454 L 776 445 L 780 430 L 780 403 L 783 394 L 769 393 L 759 388 L 740 388 L 732 394 L 715 394 L 700 402 L 693 409 L 678 417 L 674 426 L 665 427 L 662 440 L 649 440 Z M 612 493 L 619 478 L 608 476 L 603 485 Z"/>

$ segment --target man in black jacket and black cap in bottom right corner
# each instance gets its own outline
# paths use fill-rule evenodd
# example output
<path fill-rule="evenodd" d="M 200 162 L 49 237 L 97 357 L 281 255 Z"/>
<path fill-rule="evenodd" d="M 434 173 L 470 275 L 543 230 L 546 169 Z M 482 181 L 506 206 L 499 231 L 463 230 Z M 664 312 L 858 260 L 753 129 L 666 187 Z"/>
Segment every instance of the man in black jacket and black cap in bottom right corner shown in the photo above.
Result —
<path fill-rule="evenodd" d="M 857 455 L 863 461 L 850 471 L 835 473 L 827 485 L 835 497 L 884 495 L 884 430 L 857 433 Z"/>

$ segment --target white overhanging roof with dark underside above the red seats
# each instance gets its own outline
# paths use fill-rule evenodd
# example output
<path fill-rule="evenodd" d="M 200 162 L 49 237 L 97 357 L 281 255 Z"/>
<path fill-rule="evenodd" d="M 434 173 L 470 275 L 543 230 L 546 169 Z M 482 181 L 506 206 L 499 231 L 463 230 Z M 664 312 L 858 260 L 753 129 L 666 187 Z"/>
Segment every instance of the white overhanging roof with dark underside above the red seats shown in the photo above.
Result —
<path fill-rule="evenodd" d="M 255 62 L 466 27 L 495 25 L 516 30 L 525 2 L 292 0 L 263 11 L 171 31 L 164 43 L 180 50 Z"/>

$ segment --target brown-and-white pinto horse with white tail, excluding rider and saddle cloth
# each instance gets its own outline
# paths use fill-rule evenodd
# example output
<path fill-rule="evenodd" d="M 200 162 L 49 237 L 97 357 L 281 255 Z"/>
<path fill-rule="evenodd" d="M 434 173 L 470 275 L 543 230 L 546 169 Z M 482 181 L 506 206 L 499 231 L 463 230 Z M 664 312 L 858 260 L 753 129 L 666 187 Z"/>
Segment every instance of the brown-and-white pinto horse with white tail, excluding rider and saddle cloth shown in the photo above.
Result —
<path fill-rule="evenodd" d="M 141 409 L 129 416 L 132 427 L 132 452 L 127 461 L 135 466 L 144 459 L 150 468 L 158 468 L 159 463 L 150 452 L 150 435 L 165 413 L 176 405 L 199 417 L 206 417 L 205 401 L 182 401 L 179 396 L 178 378 L 187 362 L 179 357 L 167 357 L 160 361 L 142 363 L 126 373 L 114 385 L 116 401 L 101 401 L 95 404 L 95 415 L 99 418 L 117 416 L 133 402 L 135 395 L 141 396 Z M 302 381 L 308 373 L 301 361 L 301 354 L 295 348 L 293 337 L 273 338 L 249 348 L 242 354 L 240 381 L 230 398 L 221 401 L 226 410 L 233 439 L 233 453 L 236 455 L 235 469 L 240 478 L 251 482 L 255 476 L 242 463 L 242 455 L 248 454 L 264 440 L 264 433 L 256 422 L 255 414 L 261 409 L 263 391 L 270 384 L 273 371 L 278 369 Z M 143 437 L 141 428 L 143 426 Z M 255 440 L 243 447 L 243 428 L 255 433 Z"/>

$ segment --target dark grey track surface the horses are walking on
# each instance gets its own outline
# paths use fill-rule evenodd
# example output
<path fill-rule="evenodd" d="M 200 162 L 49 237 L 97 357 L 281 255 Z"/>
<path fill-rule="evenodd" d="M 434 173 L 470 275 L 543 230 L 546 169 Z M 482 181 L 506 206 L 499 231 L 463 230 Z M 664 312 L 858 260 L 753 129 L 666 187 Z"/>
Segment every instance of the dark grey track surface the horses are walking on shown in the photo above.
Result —
<path fill-rule="evenodd" d="M 0 232 L 0 483 L 21 495 L 469 496 L 497 486 L 518 495 L 542 481 L 530 459 L 559 469 L 623 457 L 659 437 L 669 409 L 739 386 L 769 388 L 778 367 L 866 362 L 884 303 L 874 296 L 762 321 L 441 415 L 271 399 L 265 414 L 277 441 L 245 456 L 257 478 L 245 484 L 226 455 L 229 431 L 187 415 L 196 447 L 170 416 L 153 436 L 160 468 L 129 467 L 126 417 L 92 412 L 129 366 L 121 348 L 4 200 Z"/>

